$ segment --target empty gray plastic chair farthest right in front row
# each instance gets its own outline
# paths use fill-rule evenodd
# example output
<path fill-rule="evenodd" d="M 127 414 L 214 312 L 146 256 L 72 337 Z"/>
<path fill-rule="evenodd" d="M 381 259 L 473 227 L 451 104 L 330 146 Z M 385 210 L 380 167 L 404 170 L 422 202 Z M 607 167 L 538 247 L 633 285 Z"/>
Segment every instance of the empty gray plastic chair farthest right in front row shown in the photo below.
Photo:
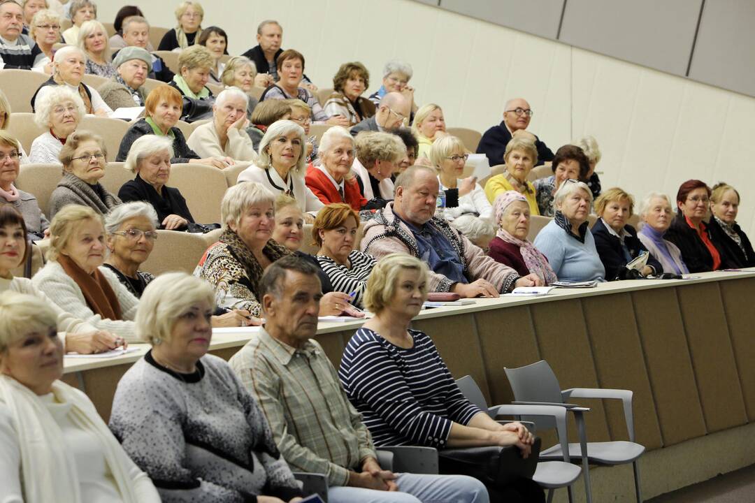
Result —
<path fill-rule="evenodd" d="M 574 413 L 579 434 L 579 443 L 569 443 L 569 458 L 572 461 L 581 459 L 584 473 L 584 490 L 587 503 L 593 501 L 590 486 L 590 462 L 596 465 L 624 465 L 632 463 L 634 469 L 634 490 L 637 501 L 643 501 L 639 480 L 639 466 L 637 459 L 645 452 L 645 446 L 634 442 L 634 417 L 632 414 L 632 391 L 621 389 L 600 388 L 571 388 L 561 391 L 556 374 L 545 360 L 532 363 L 518 369 L 504 369 L 514 393 L 515 404 L 561 406 Z M 621 400 L 624 405 L 624 419 L 627 422 L 629 441 L 615 440 L 612 442 L 587 442 L 583 414 L 590 409 L 565 403 L 569 398 L 614 398 Z M 553 419 L 536 418 L 538 428 L 553 428 Z M 559 435 L 559 440 L 560 440 Z M 541 459 L 560 459 L 565 447 L 556 445 L 540 452 Z"/>

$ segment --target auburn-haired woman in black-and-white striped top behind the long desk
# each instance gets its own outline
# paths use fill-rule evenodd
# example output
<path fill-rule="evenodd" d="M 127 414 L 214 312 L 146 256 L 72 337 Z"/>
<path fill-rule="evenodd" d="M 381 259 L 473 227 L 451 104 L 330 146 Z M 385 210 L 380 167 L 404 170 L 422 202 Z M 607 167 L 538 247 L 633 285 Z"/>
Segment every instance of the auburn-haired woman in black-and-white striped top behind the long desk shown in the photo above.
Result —
<path fill-rule="evenodd" d="M 353 305 L 361 308 L 367 278 L 377 260 L 354 249 L 358 230 L 359 213 L 348 204 L 328 204 L 317 213 L 312 238 L 319 246 L 317 262 L 333 290 L 348 294 Z"/>

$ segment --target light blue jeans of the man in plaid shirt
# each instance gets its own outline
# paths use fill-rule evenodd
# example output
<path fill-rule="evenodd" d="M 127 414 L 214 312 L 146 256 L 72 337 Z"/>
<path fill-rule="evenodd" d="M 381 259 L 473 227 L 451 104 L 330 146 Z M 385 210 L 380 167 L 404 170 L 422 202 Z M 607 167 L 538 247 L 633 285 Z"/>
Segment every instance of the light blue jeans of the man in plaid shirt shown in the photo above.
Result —
<path fill-rule="evenodd" d="M 400 492 L 375 491 L 361 487 L 328 489 L 328 503 L 488 503 L 488 489 L 466 475 L 398 474 Z"/>

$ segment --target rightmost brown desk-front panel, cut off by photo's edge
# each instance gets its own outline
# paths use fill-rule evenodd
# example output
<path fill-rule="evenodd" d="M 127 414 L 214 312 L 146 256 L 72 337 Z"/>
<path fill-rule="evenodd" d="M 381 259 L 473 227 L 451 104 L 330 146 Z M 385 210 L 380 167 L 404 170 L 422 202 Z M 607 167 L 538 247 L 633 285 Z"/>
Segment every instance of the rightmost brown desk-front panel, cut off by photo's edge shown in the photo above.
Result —
<path fill-rule="evenodd" d="M 729 322 L 729 335 L 732 337 L 747 418 L 755 421 L 755 309 L 752 302 L 745 300 L 752 298 L 755 281 L 751 278 L 721 281 L 720 289 L 726 320 Z"/>

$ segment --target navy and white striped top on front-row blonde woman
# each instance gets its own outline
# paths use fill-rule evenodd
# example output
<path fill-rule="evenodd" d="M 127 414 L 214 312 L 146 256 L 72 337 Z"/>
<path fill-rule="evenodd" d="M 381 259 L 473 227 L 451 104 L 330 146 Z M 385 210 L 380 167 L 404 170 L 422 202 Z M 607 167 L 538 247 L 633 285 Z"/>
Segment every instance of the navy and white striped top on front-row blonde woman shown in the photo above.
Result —
<path fill-rule="evenodd" d="M 338 376 L 375 446 L 443 448 L 452 422 L 467 425 L 482 410 L 461 393 L 430 337 L 409 334 L 414 346 L 404 349 L 360 328 L 344 349 Z"/>

